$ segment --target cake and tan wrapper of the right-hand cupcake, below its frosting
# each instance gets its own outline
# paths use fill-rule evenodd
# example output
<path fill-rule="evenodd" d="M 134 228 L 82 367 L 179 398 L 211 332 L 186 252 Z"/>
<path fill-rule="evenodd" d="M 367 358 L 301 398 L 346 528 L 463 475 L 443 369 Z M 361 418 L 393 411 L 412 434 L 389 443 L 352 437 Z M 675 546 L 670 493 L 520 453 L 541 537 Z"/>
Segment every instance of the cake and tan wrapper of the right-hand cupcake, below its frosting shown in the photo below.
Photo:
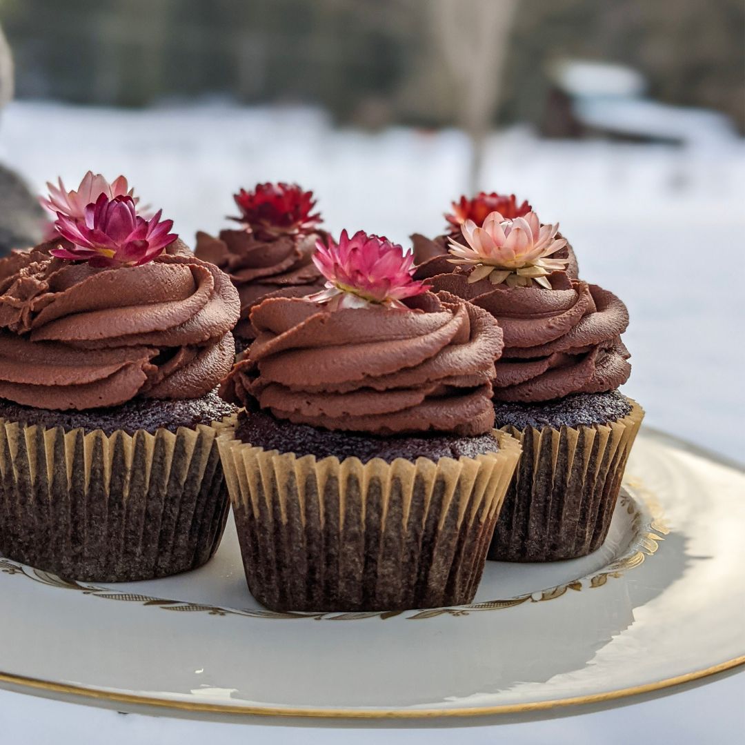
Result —
<path fill-rule="evenodd" d="M 489 546 L 493 561 L 546 562 L 606 539 L 643 412 L 618 391 L 546 404 L 495 402 L 496 426 L 522 443 Z"/>

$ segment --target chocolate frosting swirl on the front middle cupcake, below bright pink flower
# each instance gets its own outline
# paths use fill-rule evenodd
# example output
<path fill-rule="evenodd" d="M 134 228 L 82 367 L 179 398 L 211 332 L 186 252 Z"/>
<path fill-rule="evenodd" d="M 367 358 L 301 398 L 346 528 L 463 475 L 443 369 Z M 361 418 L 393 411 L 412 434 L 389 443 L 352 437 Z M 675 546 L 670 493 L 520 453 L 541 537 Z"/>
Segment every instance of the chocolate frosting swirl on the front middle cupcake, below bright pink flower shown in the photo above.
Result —
<path fill-rule="evenodd" d="M 446 293 L 408 302 L 411 311 L 328 311 L 305 299 L 264 300 L 251 314 L 256 341 L 221 393 L 330 430 L 489 432 L 498 324 Z"/>

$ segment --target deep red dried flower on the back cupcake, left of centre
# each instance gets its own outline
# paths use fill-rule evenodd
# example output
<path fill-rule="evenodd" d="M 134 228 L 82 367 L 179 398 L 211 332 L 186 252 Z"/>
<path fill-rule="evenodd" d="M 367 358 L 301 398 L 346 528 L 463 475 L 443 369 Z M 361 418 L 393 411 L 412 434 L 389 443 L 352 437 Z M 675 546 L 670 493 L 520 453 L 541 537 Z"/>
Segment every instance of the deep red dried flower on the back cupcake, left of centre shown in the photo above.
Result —
<path fill-rule="evenodd" d="M 233 195 L 241 210 L 234 220 L 245 223 L 261 240 L 280 235 L 308 235 L 321 221 L 319 212 L 311 215 L 316 205 L 312 191 L 302 191 L 297 184 L 257 184 L 253 191 L 241 189 Z"/>

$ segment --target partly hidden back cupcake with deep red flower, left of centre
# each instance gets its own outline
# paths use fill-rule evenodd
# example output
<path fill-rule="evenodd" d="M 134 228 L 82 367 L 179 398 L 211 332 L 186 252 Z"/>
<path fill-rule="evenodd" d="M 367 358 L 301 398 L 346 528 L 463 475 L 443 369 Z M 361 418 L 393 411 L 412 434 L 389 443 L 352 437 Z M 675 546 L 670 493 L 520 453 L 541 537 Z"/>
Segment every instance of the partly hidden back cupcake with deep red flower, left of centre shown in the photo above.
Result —
<path fill-rule="evenodd" d="M 235 327 L 238 351 L 253 340 L 251 308 L 265 297 L 303 297 L 323 288 L 311 256 L 320 231 L 312 191 L 297 184 L 257 184 L 235 194 L 240 229 L 220 231 L 219 238 L 197 233 L 194 253 L 226 272 L 241 297 L 241 320 Z"/>

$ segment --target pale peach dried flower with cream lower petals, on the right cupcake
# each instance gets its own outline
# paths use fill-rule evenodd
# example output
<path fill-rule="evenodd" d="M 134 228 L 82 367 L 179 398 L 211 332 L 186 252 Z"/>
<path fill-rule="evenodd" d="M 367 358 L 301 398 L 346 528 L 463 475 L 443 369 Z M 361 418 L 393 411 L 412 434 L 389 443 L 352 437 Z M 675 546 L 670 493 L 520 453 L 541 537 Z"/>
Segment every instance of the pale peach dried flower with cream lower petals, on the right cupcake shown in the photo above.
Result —
<path fill-rule="evenodd" d="M 479 227 L 474 221 L 463 223 L 467 246 L 450 238 L 448 250 L 455 257 L 451 264 L 473 267 L 469 282 L 489 277 L 493 285 L 506 282 L 510 287 L 536 284 L 551 290 L 547 277 L 566 267 L 568 259 L 548 259 L 565 247 L 565 238 L 556 238 L 559 223 L 542 225 L 535 212 L 513 220 L 492 212 Z"/>

